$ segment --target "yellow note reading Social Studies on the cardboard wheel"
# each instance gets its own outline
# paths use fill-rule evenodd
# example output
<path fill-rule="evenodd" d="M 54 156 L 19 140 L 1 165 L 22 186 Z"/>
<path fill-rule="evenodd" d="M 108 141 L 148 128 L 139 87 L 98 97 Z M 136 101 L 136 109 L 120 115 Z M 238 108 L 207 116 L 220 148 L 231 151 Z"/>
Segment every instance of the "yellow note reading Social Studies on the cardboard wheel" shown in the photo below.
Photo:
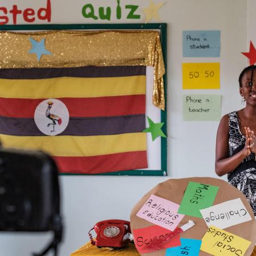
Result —
<path fill-rule="evenodd" d="M 200 250 L 212 255 L 242 256 L 250 243 L 250 241 L 226 232 L 226 230 L 210 226 L 202 238 Z"/>

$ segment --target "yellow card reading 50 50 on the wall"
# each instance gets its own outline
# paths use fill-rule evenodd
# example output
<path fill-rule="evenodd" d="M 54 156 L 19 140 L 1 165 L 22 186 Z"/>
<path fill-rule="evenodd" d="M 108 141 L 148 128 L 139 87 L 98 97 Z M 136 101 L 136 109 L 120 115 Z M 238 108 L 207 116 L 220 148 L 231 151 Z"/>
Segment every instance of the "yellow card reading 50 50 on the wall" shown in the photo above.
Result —
<path fill-rule="evenodd" d="M 183 63 L 183 89 L 220 89 L 220 63 Z"/>

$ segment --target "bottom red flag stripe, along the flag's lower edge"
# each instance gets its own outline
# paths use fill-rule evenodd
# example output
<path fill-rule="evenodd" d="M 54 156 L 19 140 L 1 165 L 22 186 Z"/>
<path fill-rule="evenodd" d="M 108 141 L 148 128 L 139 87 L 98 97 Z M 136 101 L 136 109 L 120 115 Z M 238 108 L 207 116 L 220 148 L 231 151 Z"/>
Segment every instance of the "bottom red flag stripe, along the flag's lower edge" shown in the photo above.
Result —
<path fill-rule="evenodd" d="M 135 151 L 99 156 L 52 156 L 59 172 L 72 174 L 101 174 L 147 168 L 147 152 Z"/>

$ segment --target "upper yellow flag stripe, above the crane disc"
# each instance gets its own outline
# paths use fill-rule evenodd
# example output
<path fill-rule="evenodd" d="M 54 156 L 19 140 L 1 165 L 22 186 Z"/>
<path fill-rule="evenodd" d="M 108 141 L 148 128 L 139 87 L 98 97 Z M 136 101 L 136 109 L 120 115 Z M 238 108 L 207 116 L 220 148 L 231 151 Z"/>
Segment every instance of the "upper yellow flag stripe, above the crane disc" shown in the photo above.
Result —
<path fill-rule="evenodd" d="M 90 98 L 146 93 L 146 76 L 0 79 L 3 98 Z"/>

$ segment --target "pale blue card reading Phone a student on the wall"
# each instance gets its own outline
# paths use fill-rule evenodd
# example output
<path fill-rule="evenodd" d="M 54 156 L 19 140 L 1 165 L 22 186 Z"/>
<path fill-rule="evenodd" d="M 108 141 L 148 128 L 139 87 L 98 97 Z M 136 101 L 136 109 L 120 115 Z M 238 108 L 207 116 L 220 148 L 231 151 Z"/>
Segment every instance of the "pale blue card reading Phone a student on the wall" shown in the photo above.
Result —
<path fill-rule="evenodd" d="M 220 57 L 220 30 L 184 30 L 183 57 Z"/>

